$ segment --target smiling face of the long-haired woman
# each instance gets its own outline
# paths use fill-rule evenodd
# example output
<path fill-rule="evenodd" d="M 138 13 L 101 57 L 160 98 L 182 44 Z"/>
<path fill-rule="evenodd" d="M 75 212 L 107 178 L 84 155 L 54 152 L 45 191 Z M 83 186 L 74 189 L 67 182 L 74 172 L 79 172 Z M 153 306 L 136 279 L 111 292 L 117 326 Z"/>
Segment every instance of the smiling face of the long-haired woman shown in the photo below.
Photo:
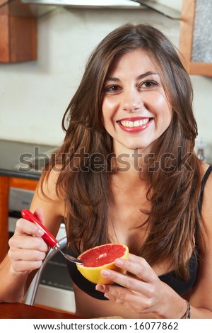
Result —
<path fill-rule="evenodd" d="M 103 93 L 102 120 L 114 152 L 136 148 L 151 152 L 170 125 L 172 107 L 148 53 L 136 49 L 114 60 Z"/>

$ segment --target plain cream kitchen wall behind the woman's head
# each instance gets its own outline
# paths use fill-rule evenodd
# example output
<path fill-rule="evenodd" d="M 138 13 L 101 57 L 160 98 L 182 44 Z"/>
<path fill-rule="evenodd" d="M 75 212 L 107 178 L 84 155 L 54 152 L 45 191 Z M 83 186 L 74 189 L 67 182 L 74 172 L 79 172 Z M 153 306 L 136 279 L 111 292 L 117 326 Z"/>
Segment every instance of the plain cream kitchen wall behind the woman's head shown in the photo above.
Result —
<path fill-rule="evenodd" d="M 182 0 L 158 0 L 181 11 Z M 150 23 L 179 46 L 179 20 L 150 9 L 71 9 L 57 7 L 37 19 L 38 57 L 0 64 L 0 139 L 59 145 L 61 118 L 76 91 L 93 47 L 126 22 Z M 212 161 L 212 77 L 191 75 L 199 137 Z"/>

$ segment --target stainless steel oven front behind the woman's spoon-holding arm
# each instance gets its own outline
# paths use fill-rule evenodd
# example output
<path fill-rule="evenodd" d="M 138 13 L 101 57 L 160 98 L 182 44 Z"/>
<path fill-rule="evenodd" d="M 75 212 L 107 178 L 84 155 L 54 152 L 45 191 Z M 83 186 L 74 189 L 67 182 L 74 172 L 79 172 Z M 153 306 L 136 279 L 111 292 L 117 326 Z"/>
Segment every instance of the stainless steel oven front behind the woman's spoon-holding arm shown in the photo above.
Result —
<path fill-rule="evenodd" d="M 10 188 L 9 190 L 9 213 L 8 231 L 10 237 L 16 227 L 16 221 L 21 218 L 21 210 L 30 208 L 34 191 L 21 188 Z M 64 223 L 61 223 L 57 240 L 66 237 Z M 42 273 L 40 285 L 37 290 L 35 304 L 46 307 L 54 307 L 68 312 L 75 312 L 75 299 L 73 285 L 66 269 L 66 259 L 60 253 L 49 261 Z"/>

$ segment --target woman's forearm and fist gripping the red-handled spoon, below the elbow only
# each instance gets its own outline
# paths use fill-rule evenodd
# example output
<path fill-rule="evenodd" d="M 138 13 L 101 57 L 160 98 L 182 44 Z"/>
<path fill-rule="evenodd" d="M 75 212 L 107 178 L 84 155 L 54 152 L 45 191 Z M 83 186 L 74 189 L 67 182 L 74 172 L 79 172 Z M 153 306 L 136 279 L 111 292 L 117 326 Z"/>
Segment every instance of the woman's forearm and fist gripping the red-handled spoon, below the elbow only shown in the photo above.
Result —
<path fill-rule="evenodd" d="M 39 214 L 37 215 L 40 219 Z M 0 302 L 20 302 L 25 294 L 25 284 L 33 279 L 42 265 L 48 250 L 43 242 L 42 230 L 20 219 L 13 237 L 9 239 L 9 251 L 0 265 Z"/>

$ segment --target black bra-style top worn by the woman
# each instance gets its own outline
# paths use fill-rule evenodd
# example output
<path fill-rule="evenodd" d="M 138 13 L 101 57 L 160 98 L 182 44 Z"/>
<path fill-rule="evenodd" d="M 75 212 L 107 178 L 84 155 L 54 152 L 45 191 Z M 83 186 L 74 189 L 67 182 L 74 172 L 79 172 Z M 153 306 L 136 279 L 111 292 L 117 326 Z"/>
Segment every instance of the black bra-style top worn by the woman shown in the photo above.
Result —
<path fill-rule="evenodd" d="M 209 174 L 212 171 L 212 166 L 209 166 L 206 174 L 204 174 L 204 178 L 202 179 L 201 182 L 201 193 L 199 197 L 199 211 L 201 212 L 201 205 L 202 205 L 202 199 L 203 199 L 203 193 L 204 193 L 204 186 L 206 184 L 206 181 L 208 179 Z M 196 227 L 196 254 L 199 253 L 199 248 L 198 248 L 198 226 Z M 74 253 L 73 250 L 68 247 L 67 248 L 67 253 L 70 254 L 71 256 L 78 256 L 79 254 Z M 104 294 L 101 293 L 98 290 L 95 290 L 95 284 L 91 283 L 88 281 L 86 278 L 84 278 L 81 273 L 78 271 L 76 268 L 76 264 L 71 263 L 70 261 L 67 261 L 67 268 L 69 271 L 69 274 L 71 276 L 71 279 L 73 283 L 78 286 L 81 290 L 83 290 L 85 293 L 88 295 L 98 298 L 99 300 L 107 300 L 105 298 Z M 167 283 L 168 286 L 170 286 L 173 290 L 175 290 L 176 293 L 179 295 L 183 295 L 186 293 L 189 289 L 194 286 L 194 283 L 196 281 L 196 276 L 198 272 L 198 259 L 196 256 L 193 254 L 190 261 L 189 261 L 189 280 L 185 281 L 182 278 L 179 278 L 175 271 L 170 271 L 168 273 L 165 273 L 161 276 L 158 276 L 161 281 Z M 114 283 L 114 285 L 117 285 L 117 283 Z M 118 286 L 118 285 L 117 285 Z"/>

